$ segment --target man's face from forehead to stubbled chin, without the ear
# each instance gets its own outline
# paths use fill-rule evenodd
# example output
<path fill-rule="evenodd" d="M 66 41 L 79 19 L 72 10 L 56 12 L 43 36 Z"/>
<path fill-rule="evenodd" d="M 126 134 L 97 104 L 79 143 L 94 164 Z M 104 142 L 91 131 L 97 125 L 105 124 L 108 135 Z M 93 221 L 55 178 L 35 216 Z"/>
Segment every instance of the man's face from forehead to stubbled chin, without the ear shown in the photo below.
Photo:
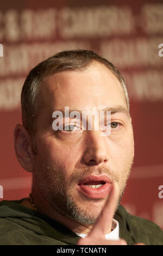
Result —
<path fill-rule="evenodd" d="M 64 111 L 65 106 L 86 112 L 106 107 L 127 111 L 122 86 L 108 68 L 94 63 L 82 71 L 62 71 L 49 77 L 41 87 L 41 97 L 33 184 L 52 209 L 81 223 L 95 223 L 110 188 L 106 194 L 98 193 L 97 188 L 90 188 L 91 192 L 86 188 L 86 192 L 81 187 L 85 178 L 89 177 L 88 183 L 92 184 L 90 177 L 96 176 L 99 181 L 105 175 L 117 181 L 121 198 L 134 155 L 130 117 L 125 112 L 113 112 L 111 134 L 101 136 L 101 130 L 82 130 L 82 122 L 81 130 L 54 131 L 52 113 Z"/>

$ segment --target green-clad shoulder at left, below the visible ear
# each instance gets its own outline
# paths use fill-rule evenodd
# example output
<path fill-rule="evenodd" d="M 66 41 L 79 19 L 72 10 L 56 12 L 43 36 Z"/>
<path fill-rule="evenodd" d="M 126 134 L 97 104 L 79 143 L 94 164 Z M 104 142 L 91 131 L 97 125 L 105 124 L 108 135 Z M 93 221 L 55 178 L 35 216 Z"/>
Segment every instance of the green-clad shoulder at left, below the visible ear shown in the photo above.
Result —
<path fill-rule="evenodd" d="M 46 234 L 49 225 L 22 200 L 0 202 L 0 245 L 65 245 L 58 237 Z"/>

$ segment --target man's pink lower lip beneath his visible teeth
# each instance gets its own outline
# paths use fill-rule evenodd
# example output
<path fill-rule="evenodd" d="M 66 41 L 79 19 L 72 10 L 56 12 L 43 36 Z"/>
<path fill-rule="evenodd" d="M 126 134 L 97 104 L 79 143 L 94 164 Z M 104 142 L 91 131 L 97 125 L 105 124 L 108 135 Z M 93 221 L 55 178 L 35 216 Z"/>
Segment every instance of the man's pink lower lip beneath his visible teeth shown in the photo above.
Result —
<path fill-rule="evenodd" d="M 78 185 L 78 188 L 80 192 L 85 194 L 85 196 L 93 199 L 99 199 L 108 196 L 108 193 L 111 190 L 111 183 L 105 183 L 98 188 L 87 187 L 81 184 Z"/>

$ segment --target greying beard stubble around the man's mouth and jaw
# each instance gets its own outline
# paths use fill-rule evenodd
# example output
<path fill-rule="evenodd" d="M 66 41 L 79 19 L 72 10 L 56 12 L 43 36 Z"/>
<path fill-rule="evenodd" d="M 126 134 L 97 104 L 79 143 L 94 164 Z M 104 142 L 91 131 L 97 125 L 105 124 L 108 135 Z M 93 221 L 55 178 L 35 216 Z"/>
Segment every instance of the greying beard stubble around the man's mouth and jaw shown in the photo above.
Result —
<path fill-rule="evenodd" d="M 118 176 L 116 172 L 107 167 L 96 168 L 95 171 L 95 167 L 92 166 L 82 170 L 75 169 L 69 180 L 66 180 L 59 163 L 56 164 L 55 167 L 49 166 L 48 164 L 40 161 L 38 155 L 35 155 L 34 162 L 33 186 L 36 185 L 37 188 L 39 188 L 41 197 L 48 202 L 51 209 L 79 223 L 95 224 L 104 206 L 106 198 L 91 199 L 82 195 L 82 197 L 79 198 L 79 201 L 81 202 L 81 200 L 83 200 L 83 204 L 79 205 L 78 200 L 75 200 L 73 197 L 74 186 L 78 184 L 79 180 L 90 174 L 108 175 L 112 181 L 117 182 L 120 188 L 120 194 L 117 198 L 115 209 L 116 212 L 126 188 L 133 159 L 128 163 L 128 168 L 123 170 L 121 176 Z M 97 203 L 100 203 L 101 207 L 98 207 Z M 92 205 L 92 211 L 89 210 L 89 205 Z"/>

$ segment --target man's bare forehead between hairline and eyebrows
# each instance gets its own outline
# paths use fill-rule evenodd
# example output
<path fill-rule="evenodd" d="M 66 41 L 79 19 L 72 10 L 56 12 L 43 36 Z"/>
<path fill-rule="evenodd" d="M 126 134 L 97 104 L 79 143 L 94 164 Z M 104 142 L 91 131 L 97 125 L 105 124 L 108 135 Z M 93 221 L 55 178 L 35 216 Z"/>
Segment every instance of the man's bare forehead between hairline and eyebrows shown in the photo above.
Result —
<path fill-rule="evenodd" d="M 84 70 L 66 70 L 48 77 L 40 93 L 43 108 L 49 111 L 65 106 L 83 110 L 98 110 L 106 105 L 127 107 L 120 82 L 99 63 L 93 63 Z"/>

